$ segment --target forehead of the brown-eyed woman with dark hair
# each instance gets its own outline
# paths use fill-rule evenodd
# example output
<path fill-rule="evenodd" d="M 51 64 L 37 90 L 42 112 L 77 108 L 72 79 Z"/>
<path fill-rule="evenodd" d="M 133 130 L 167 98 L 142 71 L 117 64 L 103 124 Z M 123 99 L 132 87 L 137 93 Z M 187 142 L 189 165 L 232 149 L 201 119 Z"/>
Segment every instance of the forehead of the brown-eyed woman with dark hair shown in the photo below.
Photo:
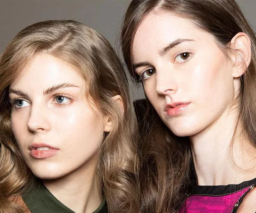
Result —
<path fill-rule="evenodd" d="M 135 33 L 132 56 L 145 56 L 149 50 L 156 52 L 178 38 L 201 40 L 205 34 L 187 18 L 169 12 L 150 12 Z"/>

